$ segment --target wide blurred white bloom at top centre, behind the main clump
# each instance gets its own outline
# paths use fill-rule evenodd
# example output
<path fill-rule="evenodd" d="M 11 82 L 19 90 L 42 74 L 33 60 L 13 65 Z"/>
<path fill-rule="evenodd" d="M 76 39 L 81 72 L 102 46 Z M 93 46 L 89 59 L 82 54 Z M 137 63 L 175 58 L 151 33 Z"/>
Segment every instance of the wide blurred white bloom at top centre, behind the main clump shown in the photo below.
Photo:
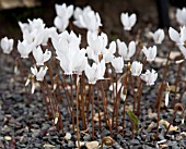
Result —
<path fill-rule="evenodd" d="M 101 18 L 97 12 L 94 12 L 91 7 L 85 7 L 83 10 L 75 8 L 73 24 L 80 28 L 86 28 L 90 32 L 98 33 L 100 26 L 102 26 Z"/>

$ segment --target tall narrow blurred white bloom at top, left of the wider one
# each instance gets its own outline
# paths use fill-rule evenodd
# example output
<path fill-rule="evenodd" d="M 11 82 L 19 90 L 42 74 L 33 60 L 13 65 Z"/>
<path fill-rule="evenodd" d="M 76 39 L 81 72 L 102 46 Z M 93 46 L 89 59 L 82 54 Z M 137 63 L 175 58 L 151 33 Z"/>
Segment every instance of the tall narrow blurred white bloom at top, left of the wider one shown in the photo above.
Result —
<path fill-rule="evenodd" d="M 57 16 L 55 17 L 54 24 L 59 29 L 63 32 L 69 25 L 69 18 L 73 14 L 73 5 L 67 7 L 66 3 L 55 5 Z"/>

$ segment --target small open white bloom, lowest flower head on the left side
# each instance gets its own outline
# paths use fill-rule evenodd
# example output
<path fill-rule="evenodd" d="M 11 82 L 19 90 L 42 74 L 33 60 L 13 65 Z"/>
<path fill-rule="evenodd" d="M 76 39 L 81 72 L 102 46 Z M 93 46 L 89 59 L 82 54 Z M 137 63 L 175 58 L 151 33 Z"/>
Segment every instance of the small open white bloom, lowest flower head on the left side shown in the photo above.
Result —
<path fill-rule="evenodd" d="M 37 71 L 37 67 L 34 66 L 34 67 L 31 67 L 31 72 L 33 73 L 33 75 L 36 77 L 36 80 L 38 82 L 43 82 L 44 80 L 44 77 L 47 73 L 47 70 L 48 67 L 47 66 L 42 66 L 39 69 L 39 71 Z"/>

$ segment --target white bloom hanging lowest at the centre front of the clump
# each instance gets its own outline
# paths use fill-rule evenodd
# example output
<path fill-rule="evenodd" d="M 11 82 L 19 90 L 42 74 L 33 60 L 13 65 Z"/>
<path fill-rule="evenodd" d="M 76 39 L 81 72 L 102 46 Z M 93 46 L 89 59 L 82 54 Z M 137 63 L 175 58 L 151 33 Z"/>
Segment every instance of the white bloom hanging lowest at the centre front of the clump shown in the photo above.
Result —
<path fill-rule="evenodd" d="M 105 70 L 106 67 L 104 60 L 100 63 L 93 63 L 92 66 L 88 64 L 84 72 L 89 84 L 95 84 L 98 79 L 104 79 Z"/>

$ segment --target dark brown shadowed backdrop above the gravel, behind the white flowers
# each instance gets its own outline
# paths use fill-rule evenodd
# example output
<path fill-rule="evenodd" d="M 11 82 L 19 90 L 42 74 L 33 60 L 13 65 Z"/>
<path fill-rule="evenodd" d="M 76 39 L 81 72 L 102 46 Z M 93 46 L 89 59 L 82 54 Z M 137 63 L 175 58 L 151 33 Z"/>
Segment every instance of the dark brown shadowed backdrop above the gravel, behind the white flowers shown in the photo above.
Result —
<path fill-rule="evenodd" d="M 21 38 L 18 21 L 40 17 L 46 26 L 53 26 L 56 16 L 55 3 L 74 4 L 74 7 L 91 5 L 101 15 L 103 29 L 107 34 L 119 35 L 121 12 L 135 12 L 138 16 L 137 27 L 167 27 L 171 5 L 184 7 L 186 0 L 0 0 L 0 38 L 8 36 Z M 174 13 L 174 9 L 172 11 Z"/>

